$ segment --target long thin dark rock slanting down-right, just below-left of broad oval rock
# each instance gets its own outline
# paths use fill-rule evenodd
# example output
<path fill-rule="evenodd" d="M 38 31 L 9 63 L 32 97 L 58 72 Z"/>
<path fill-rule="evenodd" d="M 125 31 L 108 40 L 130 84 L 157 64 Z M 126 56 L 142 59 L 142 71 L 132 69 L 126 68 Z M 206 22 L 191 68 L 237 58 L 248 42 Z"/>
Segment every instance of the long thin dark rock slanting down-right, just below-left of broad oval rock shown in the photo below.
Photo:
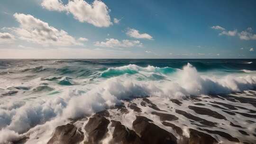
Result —
<path fill-rule="evenodd" d="M 188 119 L 192 119 L 194 121 L 197 121 L 197 122 L 199 122 L 199 123 L 201 123 L 202 125 L 205 125 L 205 126 L 216 126 L 216 124 L 217 124 L 217 123 L 205 120 L 205 119 L 200 118 L 200 117 L 195 117 L 192 114 L 189 114 L 189 113 L 187 113 L 185 111 L 182 111 L 182 110 L 179 110 L 179 109 L 176 109 L 175 112 L 177 114 L 183 115 L 184 117 L 187 117 Z"/>

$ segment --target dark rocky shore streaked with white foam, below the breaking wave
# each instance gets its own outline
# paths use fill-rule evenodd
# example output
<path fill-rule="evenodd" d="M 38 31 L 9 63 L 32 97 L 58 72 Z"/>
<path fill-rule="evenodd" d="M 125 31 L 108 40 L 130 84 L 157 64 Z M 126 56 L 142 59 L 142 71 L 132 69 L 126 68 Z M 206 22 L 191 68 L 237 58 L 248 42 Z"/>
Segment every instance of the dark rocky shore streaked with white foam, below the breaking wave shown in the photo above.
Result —
<path fill-rule="evenodd" d="M 57 126 L 47 144 L 256 144 L 255 109 L 252 91 L 137 98 Z"/>

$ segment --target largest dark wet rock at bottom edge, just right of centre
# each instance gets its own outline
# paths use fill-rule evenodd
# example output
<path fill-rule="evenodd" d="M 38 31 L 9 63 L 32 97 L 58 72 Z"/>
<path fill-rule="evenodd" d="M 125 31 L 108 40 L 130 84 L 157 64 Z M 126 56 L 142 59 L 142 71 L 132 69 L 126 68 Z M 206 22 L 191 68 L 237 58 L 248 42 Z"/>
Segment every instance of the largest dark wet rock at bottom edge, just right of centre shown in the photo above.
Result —
<path fill-rule="evenodd" d="M 177 144 L 177 138 L 166 130 L 151 123 L 152 120 L 136 116 L 132 126 L 145 144 Z"/>

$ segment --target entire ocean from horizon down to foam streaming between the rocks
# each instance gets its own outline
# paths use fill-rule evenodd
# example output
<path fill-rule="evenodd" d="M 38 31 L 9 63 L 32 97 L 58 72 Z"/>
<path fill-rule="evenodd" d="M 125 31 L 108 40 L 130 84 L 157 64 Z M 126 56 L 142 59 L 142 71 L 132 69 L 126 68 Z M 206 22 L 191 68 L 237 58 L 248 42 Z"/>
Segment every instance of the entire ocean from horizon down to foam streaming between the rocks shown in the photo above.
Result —
<path fill-rule="evenodd" d="M 255 59 L 2 59 L 0 144 L 11 144 L 24 136 L 26 144 L 46 144 L 56 126 L 117 105 L 128 106 L 138 98 L 148 98 L 165 111 L 168 105 L 170 113 L 179 118 L 175 124 L 182 126 L 185 136 L 189 137 L 186 129 L 203 131 L 205 127 L 200 121 L 186 120 L 177 109 L 218 123 L 210 130 L 228 133 L 241 143 L 255 143 L 255 90 Z M 189 105 L 208 108 L 225 118 L 207 116 Z M 161 121 L 150 114 L 152 109 L 139 108 L 141 115 Z M 112 114 L 132 129 L 134 112 L 123 117 Z M 230 142 L 223 135 L 206 132 L 219 142 Z"/>

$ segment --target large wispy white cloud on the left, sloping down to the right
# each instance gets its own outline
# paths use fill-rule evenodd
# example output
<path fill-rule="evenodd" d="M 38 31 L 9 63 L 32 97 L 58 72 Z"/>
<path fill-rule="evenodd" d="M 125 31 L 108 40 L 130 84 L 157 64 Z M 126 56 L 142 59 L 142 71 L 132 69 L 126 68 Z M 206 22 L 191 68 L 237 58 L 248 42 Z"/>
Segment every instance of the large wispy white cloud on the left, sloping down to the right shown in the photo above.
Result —
<path fill-rule="evenodd" d="M 68 35 L 64 30 L 58 30 L 55 27 L 51 27 L 48 23 L 31 15 L 15 13 L 13 16 L 19 22 L 20 26 L 12 27 L 10 29 L 16 33 L 19 39 L 44 46 L 82 45 L 82 43 Z"/>

